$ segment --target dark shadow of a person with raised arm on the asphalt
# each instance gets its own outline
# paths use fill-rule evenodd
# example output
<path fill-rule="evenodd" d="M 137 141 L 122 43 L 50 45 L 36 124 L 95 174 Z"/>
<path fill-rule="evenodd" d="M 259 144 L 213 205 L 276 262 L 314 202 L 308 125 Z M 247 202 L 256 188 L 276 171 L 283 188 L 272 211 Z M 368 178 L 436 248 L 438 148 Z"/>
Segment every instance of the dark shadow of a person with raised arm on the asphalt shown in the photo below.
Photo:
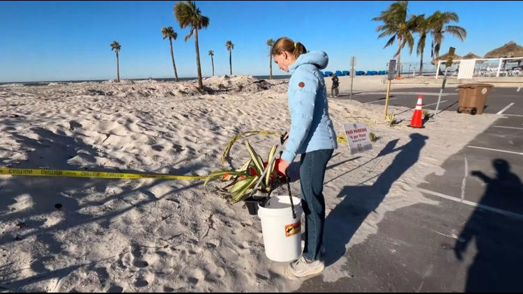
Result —
<path fill-rule="evenodd" d="M 472 171 L 487 184 L 485 194 L 464 225 L 454 246 L 456 258 L 463 260 L 471 240 L 476 240 L 477 253 L 467 274 L 466 292 L 520 292 L 522 286 L 523 233 L 522 219 L 483 210 L 490 206 L 523 214 L 523 184 L 510 172 L 506 160 L 492 160 L 496 178 Z"/>

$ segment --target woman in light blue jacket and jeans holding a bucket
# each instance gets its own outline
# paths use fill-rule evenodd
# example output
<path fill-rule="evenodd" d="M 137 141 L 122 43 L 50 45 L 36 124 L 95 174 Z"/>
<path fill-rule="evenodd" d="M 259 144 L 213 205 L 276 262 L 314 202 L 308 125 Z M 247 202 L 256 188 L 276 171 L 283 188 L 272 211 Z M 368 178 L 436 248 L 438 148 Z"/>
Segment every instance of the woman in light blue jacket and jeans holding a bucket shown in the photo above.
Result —
<path fill-rule="evenodd" d="M 327 90 L 319 70 L 326 68 L 325 52 L 307 52 L 300 42 L 279 38 L 271 54 L 281 70 L 291 72 L 287 100 L 291 127 L 278 170 L 287 171 L 297 154 L 300 160 L 301 205 L 305 212 L 303 256 L 289 265 L 296 277 L 317 274 L 325 223 L 323 183 L 328 160 L 338 148 L 333 122 L 328 116 Z"/>

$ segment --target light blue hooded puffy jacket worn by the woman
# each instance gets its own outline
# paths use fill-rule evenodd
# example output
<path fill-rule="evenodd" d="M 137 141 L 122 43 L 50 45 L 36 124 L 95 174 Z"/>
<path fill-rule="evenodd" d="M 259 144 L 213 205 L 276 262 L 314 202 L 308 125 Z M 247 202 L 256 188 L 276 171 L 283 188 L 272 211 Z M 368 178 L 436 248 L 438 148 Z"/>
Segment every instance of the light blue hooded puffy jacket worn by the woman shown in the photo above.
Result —
<path fill-rule="evenodd" d="M 292 162 L 298 153 L 338 148 L 333 122 L 328 116 L 327 90 L 319 70 L 327 67 L 325 52 L 298 56 L 289 67 L 287 100 L 291 112 L 289 139 L 282 159 Z"/>

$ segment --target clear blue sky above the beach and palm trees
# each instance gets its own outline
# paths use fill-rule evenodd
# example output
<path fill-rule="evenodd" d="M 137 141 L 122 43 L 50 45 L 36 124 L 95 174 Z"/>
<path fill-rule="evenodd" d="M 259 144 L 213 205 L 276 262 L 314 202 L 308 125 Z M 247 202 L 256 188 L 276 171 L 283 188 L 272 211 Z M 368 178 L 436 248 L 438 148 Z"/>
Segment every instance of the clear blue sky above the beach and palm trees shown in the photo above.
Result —
<path fill-rule="evenodd" d="M 121 45 L 123 79 L 174 77 L 169 41 L 163 26 L 178 33 L 173 41 L 179 77 L 195 77 L 195 42 L 183 37 L 173 14 L 177 1 L 0 1 L 0 82 L 114 79 L 116 59 L 109 44 Z M 393 1 L 196 1 L 209 27 L 199 31 L 202 75 L 211 75 L 209 50 L 214 50 L 215 75 L 229 73 L 225 42 L 232 40 L 235 75 L 268 75 L 266 40 L 288 36 L 308 50 L 329 56 L 327 70 L 386 70 L 396 46 L 383 49 L 373 22 Z M 513 40 L 523 45 L 523 2 L 410 1 L 409 15 L 453 11 L 457 25 L 467 29 L 464 42 L 446 36 L 456 53 L 480 56 Z M 417 39 L 416 39 L 417 42 Z M 416 49 L 402 61 L 419 61 Z M 430 42 L 424 61 L 430 61 Z M 285 75 L 273 66 L 274 75 Z"/>

